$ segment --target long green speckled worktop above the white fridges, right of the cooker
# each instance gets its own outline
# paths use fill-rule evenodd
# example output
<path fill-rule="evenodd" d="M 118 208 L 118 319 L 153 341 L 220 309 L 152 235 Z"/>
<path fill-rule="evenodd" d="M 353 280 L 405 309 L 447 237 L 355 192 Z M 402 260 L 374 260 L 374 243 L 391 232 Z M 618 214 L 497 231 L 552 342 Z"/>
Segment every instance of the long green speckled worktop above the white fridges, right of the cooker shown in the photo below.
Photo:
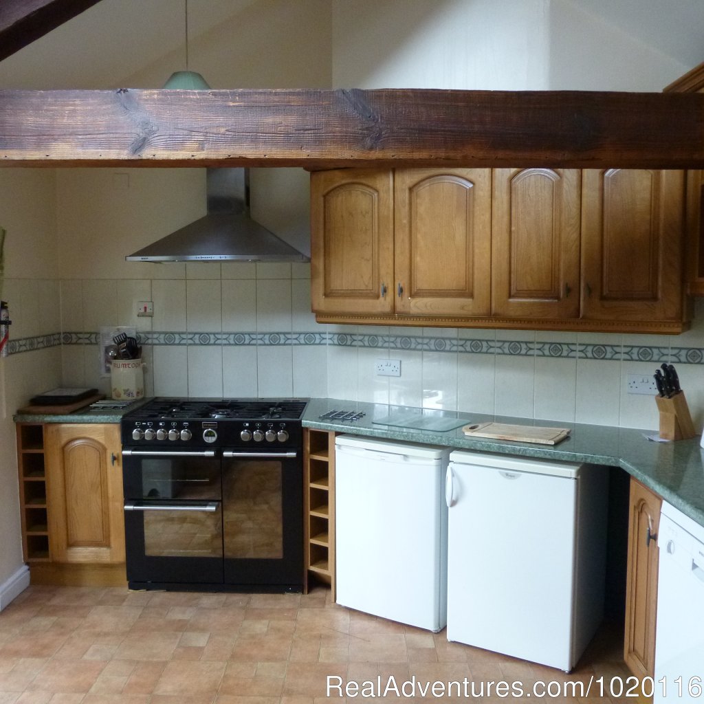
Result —
<path fill-rule="evenodd" d="M 372 422 L 375 417 L 388 415 L 396 408 L 399 407 L 335 398 L 314 398 L 306 408 L 303 426 L 458 449 L 622 467 L 632 477 L 636 477 L 656 494 L 660 494 L 665 501 L 704 525 L 704 450 L 699 447 L 699 436 L 690 440 L 658 443 L 643 437 L 643 433 L 653 434 L 653 431 L 555 420 L 495 417 L 479 413 L 444 412 L 446 416 L 465 419 L 465 425 L 470 422 L 496 421 L 515 425 L 570 428 L 572 431 L 567 439 L 557 445 L 539 445 L 469 438 L 462 432 L 461 427 L 436 432 L 377 425 Z M 365 415 L 354 422 L 320 420 L 320 415 L 329 410 L 354 410 Z M 418 412 L 420 413 L 420 409 Z"/>

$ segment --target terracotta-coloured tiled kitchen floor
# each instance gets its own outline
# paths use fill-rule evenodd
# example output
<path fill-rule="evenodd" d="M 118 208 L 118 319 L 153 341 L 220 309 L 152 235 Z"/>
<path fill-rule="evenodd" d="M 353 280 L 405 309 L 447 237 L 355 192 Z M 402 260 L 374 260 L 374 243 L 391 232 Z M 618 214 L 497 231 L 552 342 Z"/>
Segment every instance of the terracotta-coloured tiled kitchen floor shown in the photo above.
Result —
<path fill-rule="evenodd" d="M 0 704 L 317 704 L 326 699 L 328 676 L 360 687 L 393 676 L 402 694 L 413 677 L 420 686 L 467 679 L 475 687 L 517 681 L 528 689 L 536 680 L 626 677 L 621 637 L 603 628 L 566 675 L 448 643 L 444 631 L 339 607 L 327 589 L 301 596 L 32 586 L 0 613 Z M 415 697 L 389 691 L 386 699 L 480 700 L 471 690 L 457 696 L 459 686 L 441 698 L 426 691 L 424 699 L 417 689 Z M 362 693 L 347 702 L 373 701 Z M 611 701 L 593 693 L 481 700 Z"/>

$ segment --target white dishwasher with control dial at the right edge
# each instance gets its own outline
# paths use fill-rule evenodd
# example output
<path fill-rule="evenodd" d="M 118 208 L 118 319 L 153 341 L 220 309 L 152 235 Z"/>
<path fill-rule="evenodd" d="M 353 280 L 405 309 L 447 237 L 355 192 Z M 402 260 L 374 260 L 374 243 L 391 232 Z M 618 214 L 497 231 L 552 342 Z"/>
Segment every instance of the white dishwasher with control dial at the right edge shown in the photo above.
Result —
<path fill-rule="evenodd" d="M 704 527 L 663 501 L 658 547 L 653 702 L 700 702 L 704 696 Z"/>

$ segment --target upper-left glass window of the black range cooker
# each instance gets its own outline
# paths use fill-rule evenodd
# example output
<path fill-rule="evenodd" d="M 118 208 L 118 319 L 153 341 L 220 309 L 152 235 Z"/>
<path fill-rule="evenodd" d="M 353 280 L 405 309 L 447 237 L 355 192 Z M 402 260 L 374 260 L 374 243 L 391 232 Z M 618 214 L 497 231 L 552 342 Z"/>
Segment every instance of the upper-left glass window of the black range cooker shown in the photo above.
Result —
<path fill-rule="evenodd" d="M 142 459 L 142 498 L 205 500 L 220 498 L 220 463 L 211 458 Z"/>

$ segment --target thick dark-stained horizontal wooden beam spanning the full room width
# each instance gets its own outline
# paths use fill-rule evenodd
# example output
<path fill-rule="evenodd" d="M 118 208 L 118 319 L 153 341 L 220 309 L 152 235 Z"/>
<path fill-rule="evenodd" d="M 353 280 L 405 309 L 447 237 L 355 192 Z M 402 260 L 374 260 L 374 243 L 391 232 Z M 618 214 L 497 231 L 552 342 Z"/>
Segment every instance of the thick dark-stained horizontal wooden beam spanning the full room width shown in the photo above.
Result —
<path fill-rule="evenodd" d="M 5 90 L 0 165 L 704 168 L 704 95 Z"/>

